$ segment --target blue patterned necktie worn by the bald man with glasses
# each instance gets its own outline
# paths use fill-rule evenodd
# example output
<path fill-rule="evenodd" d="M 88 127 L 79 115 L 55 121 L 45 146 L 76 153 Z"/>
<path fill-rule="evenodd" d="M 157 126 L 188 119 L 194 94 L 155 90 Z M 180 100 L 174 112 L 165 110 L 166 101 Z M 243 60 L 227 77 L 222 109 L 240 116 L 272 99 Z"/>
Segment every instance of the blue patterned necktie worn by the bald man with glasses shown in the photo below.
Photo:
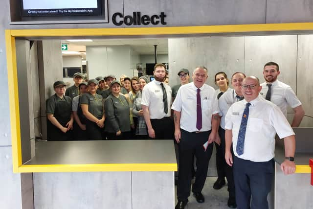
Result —
<path fill-rule="evenodd" d="M 240 129 L 238 133 L 237 147 L 236 152 L 238 155 L 244 154 L 244 145 L 245 145 L 245 137 L 246 137 L 246 123 L 248 121 L 249 116 L 249 106 L 250 102 L 246 103 L 246 108 L 244 110 L 243 117 L 241 119 Z"/>

